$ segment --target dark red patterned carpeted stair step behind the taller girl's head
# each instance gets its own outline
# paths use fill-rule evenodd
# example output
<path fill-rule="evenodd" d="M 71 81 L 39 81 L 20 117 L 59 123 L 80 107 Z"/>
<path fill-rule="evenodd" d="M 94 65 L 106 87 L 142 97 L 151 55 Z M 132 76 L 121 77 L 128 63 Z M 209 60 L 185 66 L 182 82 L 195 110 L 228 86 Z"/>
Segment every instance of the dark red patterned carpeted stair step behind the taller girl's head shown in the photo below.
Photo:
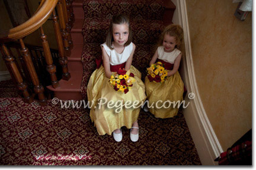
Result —
<path fill-rule="evenodd" d="M 82 27 L 85 42 L 103 43 L 111 19 L 86 18 Z M 130 19 L 135 44 L 155 44 L 164 29 L 164 22 L 152 19 Z"/>

